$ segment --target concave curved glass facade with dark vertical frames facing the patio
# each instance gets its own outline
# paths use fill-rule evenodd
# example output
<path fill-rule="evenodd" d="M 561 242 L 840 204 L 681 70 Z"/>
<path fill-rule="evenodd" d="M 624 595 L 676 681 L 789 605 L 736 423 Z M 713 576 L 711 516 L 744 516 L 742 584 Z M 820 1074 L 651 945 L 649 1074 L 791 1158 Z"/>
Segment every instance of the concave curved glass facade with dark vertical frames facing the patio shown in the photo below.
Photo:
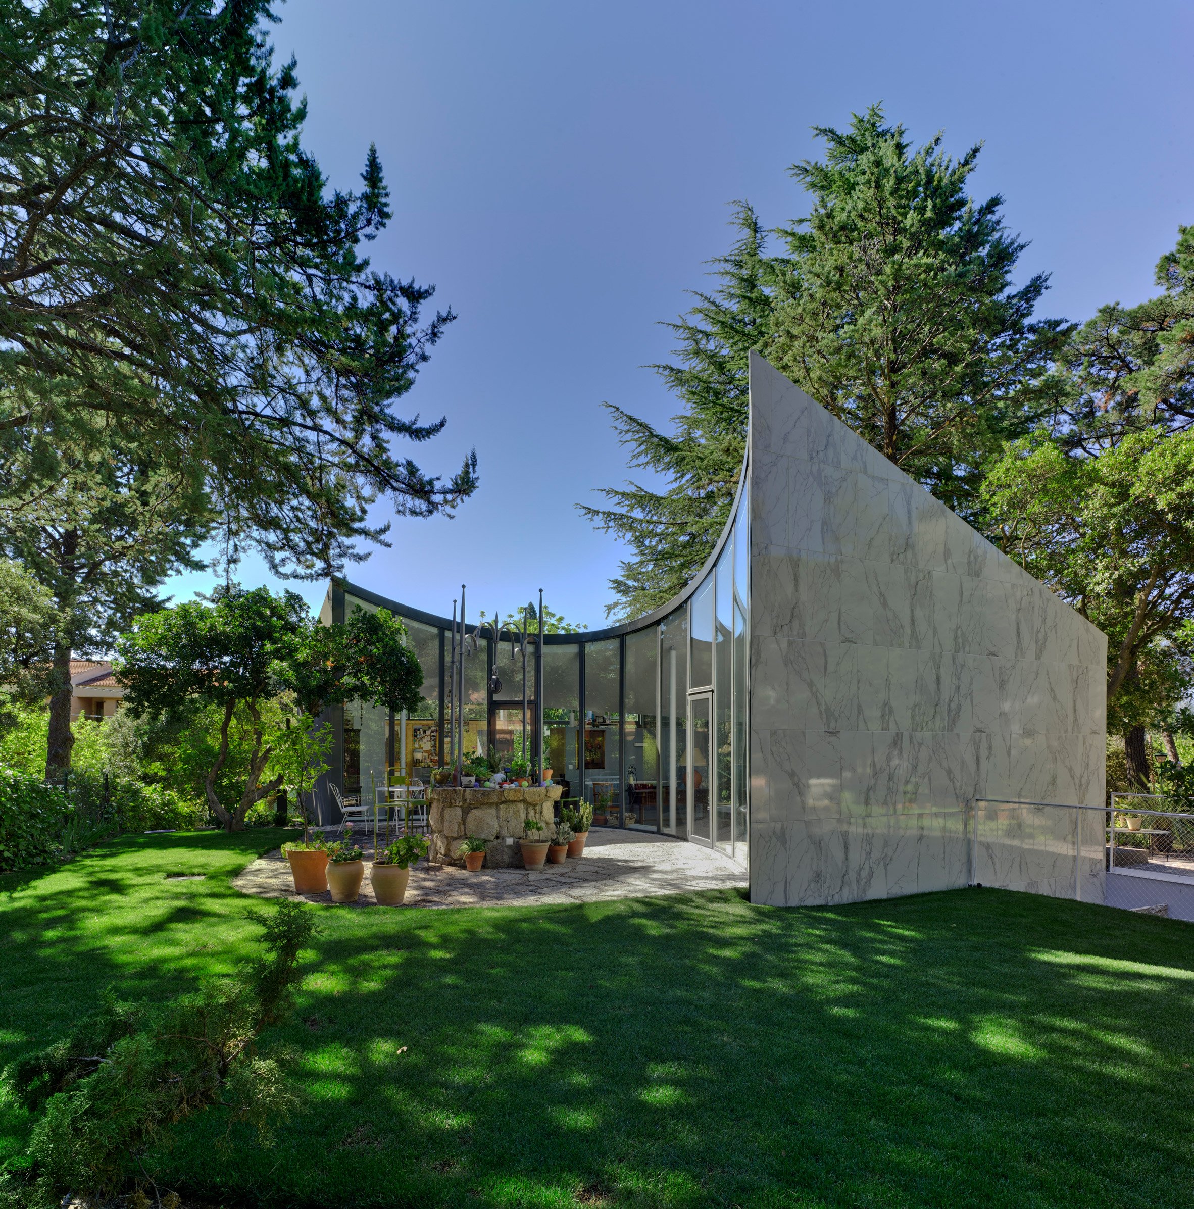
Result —
<path fill-rule="evenodd" d="M 518 637 L 466 627 L 465 752 L 501 758 L 524 751 L 586 800 L 599 827 L 685 837 L 748 861 L 750 592 L 745 474 L 713 556 L 693 583 L 654 613 L 594 634 L 535 636 L 525 660 Z M 329 712 L 331 765 L 317 791 L 336 821 L 329 783 L 375 797 L 394 776 L 429 780 L 452 759 L 448 722 L 456 686 L 452 623 L 365 588 L 334 580 L 323 618 L 388 608 L 400 617 L 423 669 L 411 715 L 350 702 Z M 542 684 L 542 734 L 536 686 Z M 524 713 L 524 700 L 526 710 Z M 417 715 L 417 716 L 416 716 Z M 524 737 L 525 736 L 525 737 Z"/>

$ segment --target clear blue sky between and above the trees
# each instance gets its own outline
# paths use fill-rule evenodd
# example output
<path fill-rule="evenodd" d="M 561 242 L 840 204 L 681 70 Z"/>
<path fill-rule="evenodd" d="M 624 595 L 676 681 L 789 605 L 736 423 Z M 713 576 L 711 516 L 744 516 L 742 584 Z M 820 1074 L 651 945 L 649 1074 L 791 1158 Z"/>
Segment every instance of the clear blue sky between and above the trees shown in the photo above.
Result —
<path fill-rule="evenodd" d="M 290 0 L 279 15 L 331 183 L 354 186 L 377 144 L 394 218 L 374 264 L 460 314 L 400 406 L 448 417 L 414 453 L 425 469 L 451 473 L 475 446 L 481 486 L 454 520 L 397 520 L 393 548 L 347 572 L 431 612 L 465 582 L 471 615 L 543 588 L 604 624 L 622 551 L 573 507 L 628 474 L 601 403 L 675 412 L 644 368 L 670 349 L 659 320 L 726 249 L 727 203 L 768 225 L 807 213 L 786 169 L 818 155 L 811 126 L 882 102 L 917 144 L 984 141 L 974 192 L 1002 193 L 1031 241 L 1021 279 L 1052 274 L 1044 314 L 1147 297 L 1194 222 L 1189 4 Z M 277 586 L 255 559 L 241 579 Z"/>

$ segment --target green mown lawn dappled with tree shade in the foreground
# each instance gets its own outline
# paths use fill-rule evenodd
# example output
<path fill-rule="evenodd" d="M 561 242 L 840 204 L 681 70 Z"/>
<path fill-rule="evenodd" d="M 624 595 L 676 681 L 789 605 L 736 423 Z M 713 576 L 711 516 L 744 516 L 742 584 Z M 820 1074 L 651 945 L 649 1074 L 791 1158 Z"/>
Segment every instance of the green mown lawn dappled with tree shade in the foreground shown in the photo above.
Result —
<path fill-rule="evenodd" d="M 0 1062 L 110 983 L 232 968 L 255 929 L 230 878 L 281 838 L 0 878 Z M 186 1124 L 166 1182 L 277 1207 L 1194 1203 L 1187 924 L 993 890 L 313 909 L 276 1030 L 306 1106 L 226 1157 L 218 1116 Z M 7 1155 L 28 1121 L 4 1097 Z"/>

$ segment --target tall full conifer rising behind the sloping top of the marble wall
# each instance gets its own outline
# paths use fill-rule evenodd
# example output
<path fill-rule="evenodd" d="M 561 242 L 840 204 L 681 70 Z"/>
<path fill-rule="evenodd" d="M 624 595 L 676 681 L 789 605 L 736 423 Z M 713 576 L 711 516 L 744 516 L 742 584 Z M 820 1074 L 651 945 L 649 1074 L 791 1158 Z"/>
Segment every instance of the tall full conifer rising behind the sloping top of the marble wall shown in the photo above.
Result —
<path fill-rule="evenodd" d="M 780 232 L 773 364 L 973 516 L 985 461 L 1055 409 L 1071 329 L 1032 317 L 1048 274 L 1013 287 L 1027 244 L 1002 197 L 967 193 L 980 146 L 952 160 L 938 134 L 913 152 L 878 105 L 814 129 L 826 155 L 791 168 L 813 208 Z"/>

